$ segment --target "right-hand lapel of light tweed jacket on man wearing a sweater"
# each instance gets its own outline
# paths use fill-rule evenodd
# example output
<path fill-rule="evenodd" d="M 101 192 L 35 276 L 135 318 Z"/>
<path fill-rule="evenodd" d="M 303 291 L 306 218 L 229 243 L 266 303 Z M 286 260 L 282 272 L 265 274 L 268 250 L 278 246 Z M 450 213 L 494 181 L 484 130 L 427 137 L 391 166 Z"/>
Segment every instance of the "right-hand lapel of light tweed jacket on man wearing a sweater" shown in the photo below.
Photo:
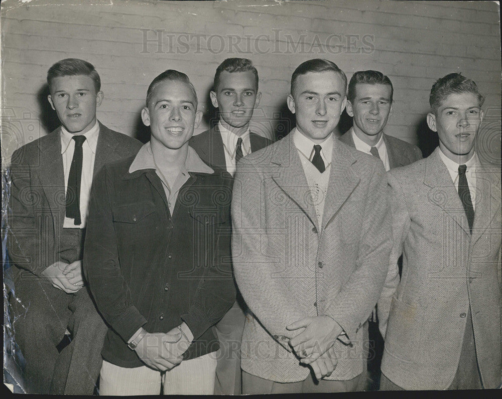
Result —
<path fill-rule="evenodd" d="M 360 178 L 350 167 L 350 165 L 355 162 L 356 159 L 352 154 L 346 152 L 336 139 L 333 140 L 331 170 L 329 172 L 328 188 L 322 218 L 323 229 L 326 228 L 354 188 L 359 184 Z"/>

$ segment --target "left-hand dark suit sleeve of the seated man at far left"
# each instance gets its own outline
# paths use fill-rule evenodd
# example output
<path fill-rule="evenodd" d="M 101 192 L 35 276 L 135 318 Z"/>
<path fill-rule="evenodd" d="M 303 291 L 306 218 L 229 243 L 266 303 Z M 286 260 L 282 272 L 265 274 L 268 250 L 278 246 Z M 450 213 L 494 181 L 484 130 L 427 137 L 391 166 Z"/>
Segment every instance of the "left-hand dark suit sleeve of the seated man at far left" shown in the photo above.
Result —
<path fill-rule="evenodd" d="M 58 260 L 53 236 L 47 234 L 41 239 L 39 230 L 43 225 L 52 227 L 50 210 L 40 208 L 42 187 L 27 161 L 26 147 L 16 150 L 10 169 L 5 177 L 10 180 L 9 211 L 7 217 L 9 258 L 18 267 L 36 276 Z"/>

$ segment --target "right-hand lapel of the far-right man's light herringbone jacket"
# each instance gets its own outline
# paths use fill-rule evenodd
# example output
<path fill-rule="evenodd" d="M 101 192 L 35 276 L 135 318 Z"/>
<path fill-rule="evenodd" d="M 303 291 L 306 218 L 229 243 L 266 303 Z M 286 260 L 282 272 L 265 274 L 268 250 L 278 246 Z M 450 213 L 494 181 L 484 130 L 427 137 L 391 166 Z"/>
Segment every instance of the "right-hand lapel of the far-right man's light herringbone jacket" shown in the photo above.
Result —
<path fill-rule="evenodd" d="M 493 169 L 480 166 L 476 170 L 476 209 L 474 211 L 471 246 L 484 234 L 491 220 L 500 209 L 500 181 Z"/>

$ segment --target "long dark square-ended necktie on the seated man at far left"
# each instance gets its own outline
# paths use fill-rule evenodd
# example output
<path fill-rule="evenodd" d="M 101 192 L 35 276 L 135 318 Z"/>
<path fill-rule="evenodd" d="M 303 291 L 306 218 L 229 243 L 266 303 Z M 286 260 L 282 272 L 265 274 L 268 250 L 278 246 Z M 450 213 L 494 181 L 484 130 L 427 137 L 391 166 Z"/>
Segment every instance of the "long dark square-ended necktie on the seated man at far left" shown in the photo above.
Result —
<path fill-rule="evenodd" d="M 75 150 L 71 160 L 68 188 L 66 189 L 66 217 L 75 219 L 75 226 L 82 223 L 80 219 L 80 181 L 82 179 L 82 144 L 85 136 L 73 136 Z"/>

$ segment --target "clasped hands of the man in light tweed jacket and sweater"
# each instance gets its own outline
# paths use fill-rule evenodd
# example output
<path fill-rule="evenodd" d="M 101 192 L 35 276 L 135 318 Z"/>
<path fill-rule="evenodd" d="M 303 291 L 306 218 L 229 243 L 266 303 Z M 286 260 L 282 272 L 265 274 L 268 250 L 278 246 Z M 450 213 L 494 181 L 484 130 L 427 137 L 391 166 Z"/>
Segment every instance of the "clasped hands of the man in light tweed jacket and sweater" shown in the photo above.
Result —
<path fill-rule="evenodd" d="M 333 345 L 343 329 L 329 316 L 305 317 L 286 326 L 290 331 L 300 328 L 305 330 L 289 340 L 300 362 L 308 364 L 318 380 L 331 375 L 338 364 Z"/>

